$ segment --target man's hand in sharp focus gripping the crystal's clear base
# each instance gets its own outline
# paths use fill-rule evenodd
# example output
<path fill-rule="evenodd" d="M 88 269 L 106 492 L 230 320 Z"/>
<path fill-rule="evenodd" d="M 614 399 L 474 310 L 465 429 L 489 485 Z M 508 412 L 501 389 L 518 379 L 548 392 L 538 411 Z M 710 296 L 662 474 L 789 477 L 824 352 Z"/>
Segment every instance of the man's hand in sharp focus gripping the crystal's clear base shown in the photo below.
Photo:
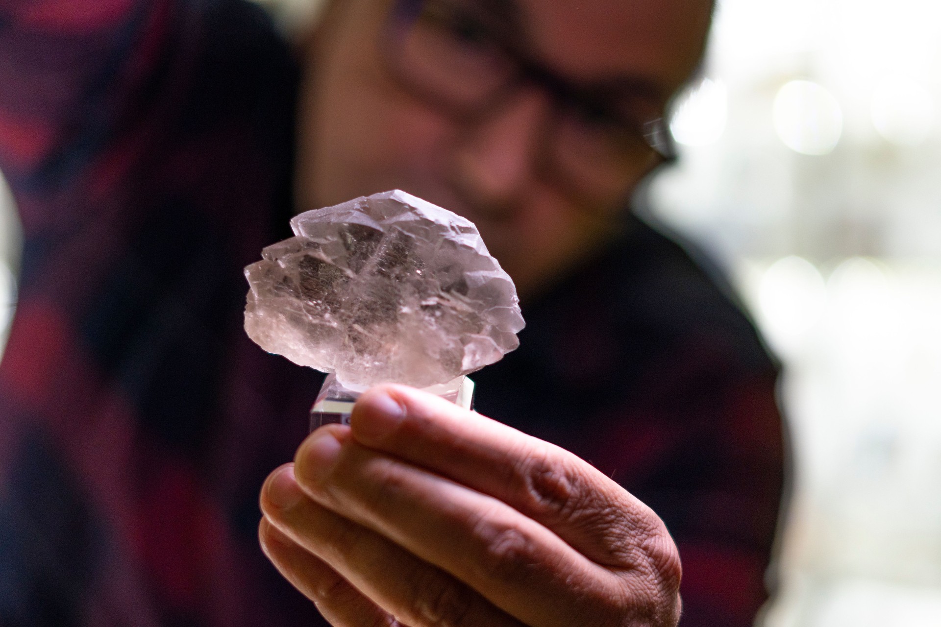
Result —
<path fill-rule="evenodd" d="M 566 450 L 402 385 L 265 481 L 259 536 L 337 627 L 673 627 L 676 545 Z"/>

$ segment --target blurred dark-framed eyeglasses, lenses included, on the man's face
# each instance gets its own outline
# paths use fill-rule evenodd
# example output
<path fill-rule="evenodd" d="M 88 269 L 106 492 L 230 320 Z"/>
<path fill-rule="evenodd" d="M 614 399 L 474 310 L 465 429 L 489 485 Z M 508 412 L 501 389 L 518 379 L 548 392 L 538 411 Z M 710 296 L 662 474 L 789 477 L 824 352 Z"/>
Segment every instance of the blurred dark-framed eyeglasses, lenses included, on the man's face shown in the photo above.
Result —
<path fill-rule="evenodd" d="M 386 32 L 393 76 L 456 119 L 472 120 L 520 85 L 553 102 L 545 157 L 572 188 L 611 197 L 655 165 L 676 159 L 662 114 L 630 86 L 582 87 L 514 43 L 512 22 L 475 0 L 398 0 Z"/>

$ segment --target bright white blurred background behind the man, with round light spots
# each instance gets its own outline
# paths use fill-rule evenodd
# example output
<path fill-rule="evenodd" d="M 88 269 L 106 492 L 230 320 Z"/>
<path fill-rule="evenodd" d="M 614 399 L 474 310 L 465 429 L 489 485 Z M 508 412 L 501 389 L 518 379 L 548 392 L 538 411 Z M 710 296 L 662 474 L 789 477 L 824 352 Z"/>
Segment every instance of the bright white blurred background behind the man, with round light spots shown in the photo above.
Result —
<path fill-rule="evenodd" d="M 309 0 L 265 0 L 291 31 Z M 650 211 L 786 371 L 796 458 L 768 627 L 941 625 L 941 3 L 720 0 Z M 0 180 L 0 351 L 18 227 Z"/>

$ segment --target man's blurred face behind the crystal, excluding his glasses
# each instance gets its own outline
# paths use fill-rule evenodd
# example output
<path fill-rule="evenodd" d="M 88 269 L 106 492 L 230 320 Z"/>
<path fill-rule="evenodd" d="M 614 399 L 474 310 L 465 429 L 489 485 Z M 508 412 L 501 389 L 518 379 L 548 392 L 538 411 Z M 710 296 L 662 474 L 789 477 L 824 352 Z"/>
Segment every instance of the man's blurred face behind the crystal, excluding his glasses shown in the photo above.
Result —
<path fill-rule="evenodd" d="M 505 22 L 525 54 L 566 85 L 643 86 L 637 106 L 662 112 L 690 76 L 709 0 L 463 0 Z M 470 4 L 468 4 L 470 3 Z M 547 159 L 558 132 L 549 90 L 523 82 L 486 112 L 455 117 L 389 67 L 392 0 L 343 0 L 306 53 L 296 172 L 299 210 L 402 189 L 473 221 L 523 296 L 604 240 L 652 158 L 616 187 L 573 190 Z M 627 87 L 630 89 L 630 87 Z M 564 144 L 558 144 L 565 146 Z M 586 182 L 587 181 L 587 182 Z"/>

